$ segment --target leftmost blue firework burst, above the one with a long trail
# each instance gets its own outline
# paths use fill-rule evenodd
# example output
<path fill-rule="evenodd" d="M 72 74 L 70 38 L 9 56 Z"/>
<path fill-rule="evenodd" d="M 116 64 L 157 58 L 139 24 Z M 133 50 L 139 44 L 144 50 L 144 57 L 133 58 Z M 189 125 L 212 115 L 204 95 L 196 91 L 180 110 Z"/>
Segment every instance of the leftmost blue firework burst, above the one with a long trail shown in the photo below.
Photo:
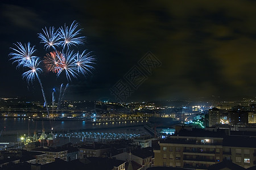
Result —
<path fill-rule="evenodd" d="M 18 62 L 18 66 L 24 66 L 27 64 L 27 61 L 30 61 L 30 59 L 36 59 L 38 57 L 33 56 L 36 49 L 35 46 L 31 46 L 30 42 L 22 45 L 21 42 L 17 42 L 17 44 L 14 44 L 16 46 L 15 48 L 10 48 L 14 50 L 14 53 L 10 53 L 9 56 L 11 56 L 11 60 L 14 60 L 13 63 Z"/>

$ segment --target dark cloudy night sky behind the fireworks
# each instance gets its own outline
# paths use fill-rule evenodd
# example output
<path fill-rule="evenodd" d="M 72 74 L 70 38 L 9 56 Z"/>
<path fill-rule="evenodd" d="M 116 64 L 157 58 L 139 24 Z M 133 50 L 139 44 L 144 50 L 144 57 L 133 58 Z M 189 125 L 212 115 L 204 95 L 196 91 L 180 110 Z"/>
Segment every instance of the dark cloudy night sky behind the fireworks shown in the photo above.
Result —
<path fill-rule="evenodd" d="M 233 1 L 1 1 L 0 96 L 42 100 L 27 87 L 8 54 L 14 42 L 45 51 L 37 33 L 77 20 L 97 58 L 88 78 L 73 80 L 66 99 L 114 100 L 111 88 L 151 51 L 162 62 L 128 100 L 196 99 L 256 94 L 256 2 Z M 60 80 L 44 73 L 50 99 Z"/>

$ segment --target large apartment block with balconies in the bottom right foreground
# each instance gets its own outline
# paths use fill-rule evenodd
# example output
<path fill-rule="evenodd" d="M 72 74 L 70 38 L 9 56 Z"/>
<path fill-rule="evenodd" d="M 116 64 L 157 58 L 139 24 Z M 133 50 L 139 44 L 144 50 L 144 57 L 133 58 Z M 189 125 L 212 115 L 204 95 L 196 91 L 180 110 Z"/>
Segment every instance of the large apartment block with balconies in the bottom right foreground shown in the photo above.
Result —
<path fill-rule="evenodd" d="M 224 130 L 181 130 L 159 145 L 154 166 L 208 169 L 224 159 L 244 168 L 256 164 L 256 138 L 230 136 Z"/>

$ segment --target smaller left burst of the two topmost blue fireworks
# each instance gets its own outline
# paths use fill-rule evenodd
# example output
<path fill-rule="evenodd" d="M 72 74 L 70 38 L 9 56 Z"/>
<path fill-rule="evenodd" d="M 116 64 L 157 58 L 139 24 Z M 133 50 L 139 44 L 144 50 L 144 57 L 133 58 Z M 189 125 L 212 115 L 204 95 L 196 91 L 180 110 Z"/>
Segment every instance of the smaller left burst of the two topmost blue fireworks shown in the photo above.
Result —
<path fill-rule="evenodd" d="M 60 45 L 60 35 L 59 31 L 55 31 L 54 27 L 49 27 L 49 31 L 47 28 L 43 29 L 44 33 L 39 33 L 38 37 L 41 39 L 41 43 L 44 44 L 44 48 L 46 49 L 54 49 Z"/>

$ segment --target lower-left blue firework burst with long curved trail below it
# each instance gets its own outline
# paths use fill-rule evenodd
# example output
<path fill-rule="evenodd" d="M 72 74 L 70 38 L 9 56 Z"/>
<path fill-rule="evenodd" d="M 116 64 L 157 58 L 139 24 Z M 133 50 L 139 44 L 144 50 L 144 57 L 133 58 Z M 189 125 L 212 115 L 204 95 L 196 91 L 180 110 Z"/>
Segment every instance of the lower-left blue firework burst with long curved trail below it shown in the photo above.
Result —
<path fill-rule="evenodd" d="M 39 64 L 40 64 L 40 61 L 39 61 L 39 58 L 36 58 L 36 59 L 30 59 L 26 62 L 26 65 L 24 65 L 24 67 L 28 67 L 30 68 L 31 70 L 28 70 L 26 72 L 24 72 L 22 74 L 22 78 L 23 79 L 26 79 L 27 80 L 27 83 L 29 84 L 30 82 L 32 83 L 35 78 L 38 79 L 38 82 L 41 86 L 41 90 L 42 90 L 42 94 L 43 94 L 43 97 L 44 97 L 44 103 L 46 103 L 46 110 L 47 110 L 47 114 L 49 116 L 49 111 L 48 111 L 48 105 L 47 105 L 47 101 L 46 101 L 46 96 L 44 94 L 44 89 L 43 89 L 43 85 L 42 85 L 42 82 L 39 78 L 39 73 L 42 73 L 43 70 L 39 67 Z"/>

